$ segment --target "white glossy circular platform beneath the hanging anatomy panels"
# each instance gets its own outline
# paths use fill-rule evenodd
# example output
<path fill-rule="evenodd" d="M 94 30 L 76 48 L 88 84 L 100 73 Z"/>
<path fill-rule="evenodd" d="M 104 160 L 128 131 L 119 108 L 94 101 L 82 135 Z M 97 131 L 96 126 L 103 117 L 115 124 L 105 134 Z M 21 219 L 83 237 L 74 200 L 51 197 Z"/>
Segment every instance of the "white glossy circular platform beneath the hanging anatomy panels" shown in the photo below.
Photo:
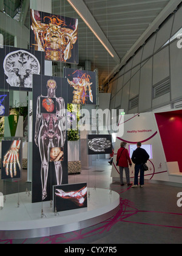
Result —
<path fill-rule="evenodd" d="M 6 196 L 4 208 L 0 210 L 0 239 L 36 238 L 72 232 L 105 221 L 118 212 L 118 193 L 101 188 L 89 188 L 88 191 L 87 208 L 59 212 L 56 216 L 50 201 L 32 204 L 31 196 L 26 193 Z"/>

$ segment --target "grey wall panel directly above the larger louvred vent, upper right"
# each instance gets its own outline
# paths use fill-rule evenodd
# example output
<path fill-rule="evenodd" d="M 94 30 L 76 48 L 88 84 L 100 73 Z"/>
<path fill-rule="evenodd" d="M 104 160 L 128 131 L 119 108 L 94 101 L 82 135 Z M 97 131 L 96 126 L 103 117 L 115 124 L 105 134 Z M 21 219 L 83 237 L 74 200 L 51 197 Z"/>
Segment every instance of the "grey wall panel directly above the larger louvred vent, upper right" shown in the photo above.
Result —
<path fill-rule="evenodd" d="M 169 47 L 153 56 L 153 85 L 169 76 Z"/>

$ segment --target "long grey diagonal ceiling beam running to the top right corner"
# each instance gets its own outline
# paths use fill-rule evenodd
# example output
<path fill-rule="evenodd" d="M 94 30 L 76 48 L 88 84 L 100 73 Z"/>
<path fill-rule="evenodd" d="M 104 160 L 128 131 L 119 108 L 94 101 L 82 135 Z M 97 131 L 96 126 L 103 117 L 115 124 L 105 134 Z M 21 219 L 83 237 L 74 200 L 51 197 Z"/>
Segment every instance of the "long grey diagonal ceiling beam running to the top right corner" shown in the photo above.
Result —
<path fill-rule="evenodd" d="M 160 12 L 160 14 L 155 18 L 155 20 L 149 25 L 149 27 L 145 30 L 145 32 L 141 35 L 141 37 L 133 44 L 132 48 L 124 55 L 121 63 L 116 65 L 116 67 L 111 71 L 109 76 L 103 81 L 103 84 L 107 84 L 107 82 L 112 78 L 114 74 L 120 71 L 121 67 L 124 66 L 127 60 L 135 54 L 135 52 L 145 43 L 147 38 L 155 32 L 158 27 L 163 23 L 164 20 L 172 13 L 175 9 L 177 9 L 178 5 L 181 3 L 181 0 L 170 0 L 170 2 L 164 7 L 164 9 Z M 122 42 L 121 42 L 122 43 Z"/>

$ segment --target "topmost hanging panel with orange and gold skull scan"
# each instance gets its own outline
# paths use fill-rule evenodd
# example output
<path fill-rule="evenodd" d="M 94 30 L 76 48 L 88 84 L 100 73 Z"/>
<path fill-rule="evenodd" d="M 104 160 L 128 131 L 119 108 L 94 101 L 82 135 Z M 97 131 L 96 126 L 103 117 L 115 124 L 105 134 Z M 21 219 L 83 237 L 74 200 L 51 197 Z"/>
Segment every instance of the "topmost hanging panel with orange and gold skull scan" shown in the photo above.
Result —
<path fill-rule="evenodd" d="M 78 64 L 78 20 L 30 10 L 30 47 L 45 60 Z"/>

